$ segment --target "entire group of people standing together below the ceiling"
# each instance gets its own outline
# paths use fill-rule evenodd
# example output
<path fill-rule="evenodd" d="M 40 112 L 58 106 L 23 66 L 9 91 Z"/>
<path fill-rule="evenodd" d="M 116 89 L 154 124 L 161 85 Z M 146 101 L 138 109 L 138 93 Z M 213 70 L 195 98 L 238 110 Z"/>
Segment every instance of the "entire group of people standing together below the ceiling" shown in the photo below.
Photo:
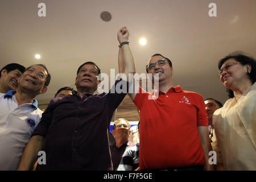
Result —
<path fill-rule="evenodd" d="M 45 65 L 11 63 L 1 69 L 0 170 L 256 170 L 255 59 L 234 52 L 218 62 L 230 97 L 222 106 L 175 86 L 171 60 L 155 53 L 146 72 L 158 89 L 148 93 L 133 78 L 129 35 L 126 27 L 117 33 L 118 69 L 125 76 L 110 92 L 94 93 L 101 69 L 88 61 L 77 69 L 76 90 L 59 89 L 45 111 L 35 99 L 51 80 Z M 124 92 L 117 92 L 117 85 Z M 138 128 L 119 118 L 110 132 L 126 93 L 138 108 Z M 212 150 L 216 164 L 209 163 Z M 39 151 L 46 164 L 38 164 Z"/>

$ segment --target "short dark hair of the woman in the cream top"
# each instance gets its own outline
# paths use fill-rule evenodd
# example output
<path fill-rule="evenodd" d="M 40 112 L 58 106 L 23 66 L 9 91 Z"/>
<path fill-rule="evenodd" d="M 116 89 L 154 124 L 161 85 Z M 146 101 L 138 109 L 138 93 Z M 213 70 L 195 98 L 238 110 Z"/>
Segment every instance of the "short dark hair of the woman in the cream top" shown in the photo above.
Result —
<path fill-rule="evenodd" d="M 254 82 L 256 80 L 256 61 L 251 55 L 248 55 L 242 51 L 236 51 L 236 52 L 230 53 L 228 56 L 226 56 L 223 59 L 221 59 L 220 61 L 218 61 L 218 69 L 221 69 L 222 64 L 224 64 L 226 60 L 229 60 L 232 58 L 235 59 L 236 61 L 238 61 L 239 63 L 241 63 L 242 65 L 246 65 L 246 64 L 251 65 L 251 72 L 250 73 L 247 72 L 247 75 L 249 76 L 251 83 L 254 84 Z M 229 94 L 229 98 L 234 97 L 233 90 L 226 89 L 226 91 Z"/>

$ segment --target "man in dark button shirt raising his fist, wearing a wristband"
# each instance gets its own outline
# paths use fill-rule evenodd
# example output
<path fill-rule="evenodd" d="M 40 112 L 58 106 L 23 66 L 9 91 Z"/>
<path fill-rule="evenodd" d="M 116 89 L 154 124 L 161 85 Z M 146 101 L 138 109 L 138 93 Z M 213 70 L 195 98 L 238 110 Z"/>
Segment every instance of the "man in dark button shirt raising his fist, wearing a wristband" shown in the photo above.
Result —
<path fill-rule="evenodd" d="M 118 31 L 125 70 L 135 73 L 134 61 L 125 27 Z M 82 64 L 77 70 L 76 91 L 71 96 L 53 99 L 35 129 L 19 163 L 20 170 L 31 169 L 38 152 L 46 152 L 46 164 L 41 170 L 113 170 L 109 149 L 109 125 L 114 110 L 126 95 L 115 86 L 126 80 L 117 80 L 109 93 L 93 94 L 97 90 L 100 68 L 92 62 Z M 129 78 L 131 80 L 132 78 Z M 128 85 L 128 84 L 127 84 Z M 122 88 L 121 88 L 122 89 Z"/>

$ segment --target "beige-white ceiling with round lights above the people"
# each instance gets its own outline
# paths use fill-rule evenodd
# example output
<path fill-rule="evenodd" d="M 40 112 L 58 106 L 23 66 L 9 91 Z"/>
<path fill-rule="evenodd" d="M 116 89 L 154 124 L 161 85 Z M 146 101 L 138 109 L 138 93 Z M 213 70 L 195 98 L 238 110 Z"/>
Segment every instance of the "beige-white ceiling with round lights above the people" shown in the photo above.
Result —
<path fill-rule="evenodd" d="M 46 17 L 38 16 L 41 2 Z M 217 17 L 208 15 L 211 2 Z M 110 22 L 101 20 L 102 11 L 112 14 Z M 93 60 L 102 73 L 117 70 L 122 26 L 130 31 L 138 73 L 145 73 L 151 55 L 162 53 L 172 60 L 175 85 L 221 102 L 228 97 L 217 77 L 218 60 L 237 50 L 256 57 L 255 0 L 1 0 L 0 16 L 0 68 L 39 63 L 52 75 L 48 92 L 37 97 L 41 104 L 63 86 L 75 88 L 85 61 Z M 146 46 L 139 44 L 142 37 Z"/>

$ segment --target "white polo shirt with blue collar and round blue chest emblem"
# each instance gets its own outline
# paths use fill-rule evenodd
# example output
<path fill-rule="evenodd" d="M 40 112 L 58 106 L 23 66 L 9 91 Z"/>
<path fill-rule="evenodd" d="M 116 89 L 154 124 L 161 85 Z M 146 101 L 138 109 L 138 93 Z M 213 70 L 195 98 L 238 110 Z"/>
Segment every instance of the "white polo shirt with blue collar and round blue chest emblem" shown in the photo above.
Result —
<path fill-rule="evenodd" d="M 15 93 L 14 90 L 0 93 L 0 171 L 16 170 L 43 113 L 36 100 L 18 106 Z"/>

